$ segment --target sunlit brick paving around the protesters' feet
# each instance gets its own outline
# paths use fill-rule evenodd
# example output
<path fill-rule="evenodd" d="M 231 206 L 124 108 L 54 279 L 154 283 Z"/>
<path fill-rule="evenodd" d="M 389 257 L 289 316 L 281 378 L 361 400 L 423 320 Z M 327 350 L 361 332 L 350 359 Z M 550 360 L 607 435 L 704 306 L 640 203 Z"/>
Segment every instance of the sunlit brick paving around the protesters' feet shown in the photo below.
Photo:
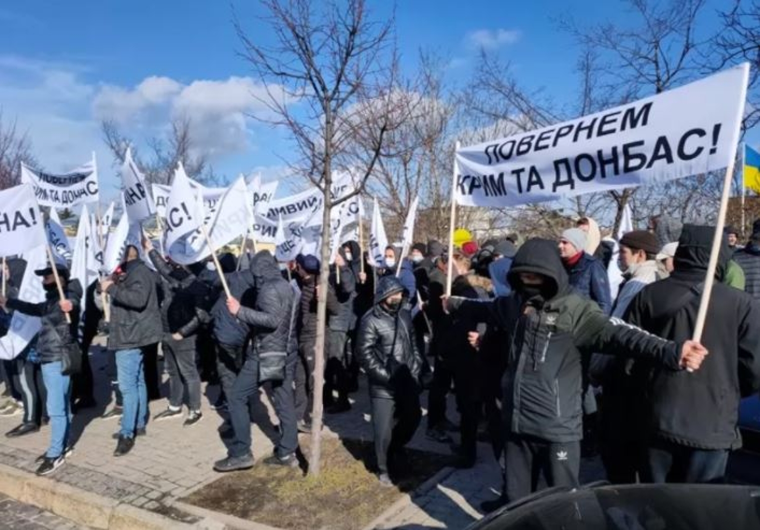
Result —
<path fill-rule="evenodd" d="M 99 344 L 100 342 L 96 342 Z M 52 479 L 83 490 L 100 494 L 132 506 L 166 512 L 171 500 L 185 497 L 198 487 L 219 478 L 211 465 L 226 455 L 226 448 L 217 433 L 223 418 L 211 410 L 217 389 L 204 386 L 203 420 L 192 427 L 183 427 L 182 419 L 147 424 L 147 436 L 136 440 L 135 448 L 127 456 L 116 458 L 112 452 L 116 441 L 111 435 L 118 430 L 119 421 L 103 421 L 100 415 L 109 405 L 109 386 L 106 377 L 106 356 L 99 346 L 93 346 L 91 363 L 96 381 L 98 407 L 82 411 L 74 417 L 72 429 L 74 453 Z M 328 416 L 325 434 L 356 440 L 372 440 L 369 423 L 369 398 L 366 387 L 352 395 L 353 409 L 345 414 Z M 150 403 L 151 415 L 166 407 L 166 399 Z M 423 402 L 423 407 L 424 407 Z M 453 402 L 449 411 L 456 408 Z M 451 413 L 452 419 L 455 415 Z M 256 458 L 271 453 L 274 438 L 274 412 L 262 396 L 262 405 L 252 424 L 253 451 Z M 0 416 L 0 433 L 14 427 L 19 416 Z M 450 453 L 448 445 L 435 443 L 425 437 L 425 419 L 410 443 L 410 447 L 433 453 Z M 8 439 L 0 437 L 0 462 L 34 472 L 36 456 L 44 453 L 49 440 L 49 427 L 39 433 Z M 479 460 L 475 468 L 455 471 L 427 494 L 413 498 L 410 506 L 389 519 L 381 528 L 464 528 L 480 518 L 480 502 L 496 495 L 500 487 L 499 471 L 490 447 L 480 444 Z M 173 516 L 186 522 L 198 518 L 177 513 Z"/>

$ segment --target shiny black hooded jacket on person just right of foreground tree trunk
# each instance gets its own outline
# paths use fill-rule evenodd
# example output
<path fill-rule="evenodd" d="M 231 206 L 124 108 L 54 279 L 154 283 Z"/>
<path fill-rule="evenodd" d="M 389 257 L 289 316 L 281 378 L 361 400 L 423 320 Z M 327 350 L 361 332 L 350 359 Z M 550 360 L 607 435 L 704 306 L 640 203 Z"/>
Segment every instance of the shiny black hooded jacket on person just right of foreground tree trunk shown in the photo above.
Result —
<path fill-rule="evenodd" d="M 375 306 L 359 323 L 356 356 L 369 377 L 373 398 L 393 399 L 419 391 L 423 359 L 414 340 L 411 314 L 405 309 L 392 314 L 380 303 L 403 289 L 395 276 L 380 279 Z"/>

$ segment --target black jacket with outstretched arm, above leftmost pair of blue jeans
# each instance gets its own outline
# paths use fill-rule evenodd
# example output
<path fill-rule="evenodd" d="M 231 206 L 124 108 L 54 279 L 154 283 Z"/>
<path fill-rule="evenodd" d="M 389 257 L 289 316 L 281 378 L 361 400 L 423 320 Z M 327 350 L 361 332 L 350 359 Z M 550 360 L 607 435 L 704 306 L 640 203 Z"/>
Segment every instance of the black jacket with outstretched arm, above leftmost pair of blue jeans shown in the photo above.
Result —
<path fill-rule="evenodd" d="M 65 313 L 61 311 L 58 289 L 47 292 L 45 301 L 30 304 L 16 298 L 8 300 L 8 309 L 19 311 L 33 317 L 40 317 L 40 333 L 37 335 L 36 350 L 40 362 L 60 361 L 72 342 L 77 342 L 79 326 L 79 308 L 82 300 L 82 287 L 78 280 L 71 279 L 65 286 L 64 295 L 74 308 L 71 311 L 71 324 L 66 322 Z"/>

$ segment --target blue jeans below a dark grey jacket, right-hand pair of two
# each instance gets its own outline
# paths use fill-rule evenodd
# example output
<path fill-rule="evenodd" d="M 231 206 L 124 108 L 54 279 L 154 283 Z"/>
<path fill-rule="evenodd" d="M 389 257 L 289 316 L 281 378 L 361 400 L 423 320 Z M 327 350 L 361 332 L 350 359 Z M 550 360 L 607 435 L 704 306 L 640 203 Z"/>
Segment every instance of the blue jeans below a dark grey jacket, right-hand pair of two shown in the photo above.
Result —
<path fill-rule="evenodd" d="M 138 348 L 117 350 L 116 370 L 119 377 L 119 390 L 122 392 L 124 401 L 122 429 L 119 435 L 134 438 L 135 428 L 144 428 L 147 418 L 147 389 L 142 350 Z"/>

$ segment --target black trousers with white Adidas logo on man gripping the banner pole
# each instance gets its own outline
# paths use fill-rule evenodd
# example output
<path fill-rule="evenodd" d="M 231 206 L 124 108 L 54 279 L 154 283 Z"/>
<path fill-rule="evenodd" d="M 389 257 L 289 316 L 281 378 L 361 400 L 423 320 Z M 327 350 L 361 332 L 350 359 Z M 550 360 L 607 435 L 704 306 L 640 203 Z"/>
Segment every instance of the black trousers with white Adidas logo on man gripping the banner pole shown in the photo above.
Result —
<path fill-rule="evenodd" d="M 578 486 L 581 442 L 553 443 L 509 435 L 505 444 L 506 494 L 515 502 L 546 487 Z"/>

